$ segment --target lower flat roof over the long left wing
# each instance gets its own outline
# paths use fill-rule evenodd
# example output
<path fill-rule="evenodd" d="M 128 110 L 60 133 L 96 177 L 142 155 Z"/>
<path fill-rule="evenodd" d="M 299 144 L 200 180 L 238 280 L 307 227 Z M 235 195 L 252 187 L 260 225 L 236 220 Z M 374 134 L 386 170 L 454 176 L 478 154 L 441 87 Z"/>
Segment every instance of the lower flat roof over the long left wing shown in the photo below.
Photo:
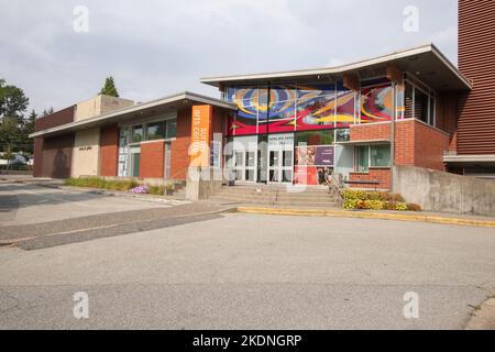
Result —
<path fill-rule="evenodd" d="M 74 121 L 67 124 L 62 124 L 56 128 L 46 129 L 42 131 L 34 132 L 30 134 L 30 138 L 36 136 L 50 136 L 67 132 L 77 132 L 87 129 L 97 128 L 105 124 L 120 122 L 121 120 L 131 120 L 133 118 L 139 118 L 140 114 L 144 113 L 160 113 L 163 111 L 168 111 L 177 109 L 182 103 L 204 103 L 210 105 L 218 108 L 223 108 L 228 110 L 237 111 L 238 107 L 234 103 L 227 102 L 217 98 L 211 98 L 195 92 L 184 91 L 173 96 L 160 98 L 156 100 L 143 102 L 133 107 L 128 107 L 124 109 L 111 111 L 103 113 L 94 118 Z M 160 111 L 162 110 L 162 111 Z"/>

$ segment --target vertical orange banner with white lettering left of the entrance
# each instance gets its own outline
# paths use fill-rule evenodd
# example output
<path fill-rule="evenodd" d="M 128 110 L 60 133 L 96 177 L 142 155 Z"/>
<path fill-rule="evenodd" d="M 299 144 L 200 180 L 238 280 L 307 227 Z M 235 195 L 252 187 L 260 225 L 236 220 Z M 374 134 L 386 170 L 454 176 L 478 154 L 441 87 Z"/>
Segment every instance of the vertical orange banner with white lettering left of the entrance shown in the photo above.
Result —
<path fill-rule="evenodd" d="M 210 166 L 210 125 L 212 107 L 193 106 L 191 146 L 189 150 L 191 167 Z"/>

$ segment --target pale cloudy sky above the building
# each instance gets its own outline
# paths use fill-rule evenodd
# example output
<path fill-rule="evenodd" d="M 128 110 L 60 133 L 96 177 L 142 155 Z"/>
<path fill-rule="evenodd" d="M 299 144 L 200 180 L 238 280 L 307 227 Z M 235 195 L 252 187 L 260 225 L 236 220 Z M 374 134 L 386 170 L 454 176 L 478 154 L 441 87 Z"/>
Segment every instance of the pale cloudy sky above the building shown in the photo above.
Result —
<path fill-rule="evenodd" d="M 457 0 L 0 0 L 0 78 L 41 112 L 92 98 L 107 76 L 143 102 L 219 97 L 201 77 L 336 66 L 426 43 L 457 64 Z"/>

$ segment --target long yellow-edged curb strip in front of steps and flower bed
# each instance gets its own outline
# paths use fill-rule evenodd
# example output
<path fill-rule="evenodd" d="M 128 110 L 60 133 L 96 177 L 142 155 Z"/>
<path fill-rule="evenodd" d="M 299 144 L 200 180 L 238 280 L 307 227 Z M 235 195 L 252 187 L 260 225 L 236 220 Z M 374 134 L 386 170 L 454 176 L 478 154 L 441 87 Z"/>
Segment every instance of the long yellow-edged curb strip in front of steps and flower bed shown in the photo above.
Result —
<path fill-rule="evenodd" d="M 239 212 L 277 215 L 277 216 L 301 216 L 301 217 L 334 217 L 376 220 L 398 220 L 430 222 L 440 224 L 495 228 L 495 218 L 448 215 L 436 212 L 399 212 L 399 211 L 370 211 L 370 210 L 340 210 L 340 209 L 300 209 L 300 208 L 275 208 L 275 207 L 238 207 Z"/>

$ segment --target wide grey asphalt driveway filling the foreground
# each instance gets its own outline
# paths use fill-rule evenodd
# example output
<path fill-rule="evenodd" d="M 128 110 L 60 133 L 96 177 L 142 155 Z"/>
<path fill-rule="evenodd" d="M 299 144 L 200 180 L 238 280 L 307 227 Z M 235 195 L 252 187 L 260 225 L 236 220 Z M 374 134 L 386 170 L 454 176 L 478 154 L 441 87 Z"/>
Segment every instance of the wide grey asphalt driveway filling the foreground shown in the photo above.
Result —
<path fill-rule="evenodd" d="M 462 329 L 495 294 L 495 231 L 227 215 L 0 250 L 1 328 Z M 73 295 L 89 296 L 89 319 Z M 419 319 L 404 317 L 417 293 Z"/>

